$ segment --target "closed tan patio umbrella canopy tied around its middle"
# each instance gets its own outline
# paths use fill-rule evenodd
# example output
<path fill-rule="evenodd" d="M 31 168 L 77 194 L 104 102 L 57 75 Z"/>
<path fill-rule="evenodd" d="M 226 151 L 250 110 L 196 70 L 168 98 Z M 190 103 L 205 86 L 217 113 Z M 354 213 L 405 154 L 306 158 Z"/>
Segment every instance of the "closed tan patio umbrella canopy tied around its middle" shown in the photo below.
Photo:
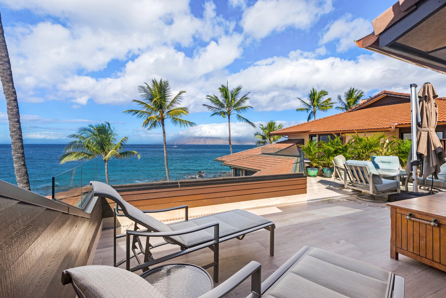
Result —
<path fill-rule="evenodd" d="M 418 92 L 420 100 L 421 128 L 417 133 L 417 152 L 423 154 L 424 167 L 421 178 L 440 173 L 440 166 L 444 164 L 446 154 L 435 132 L 438 121 L 438 107 L 435 99 L 438 97 L 434 86 L 425 83 Z"/>

